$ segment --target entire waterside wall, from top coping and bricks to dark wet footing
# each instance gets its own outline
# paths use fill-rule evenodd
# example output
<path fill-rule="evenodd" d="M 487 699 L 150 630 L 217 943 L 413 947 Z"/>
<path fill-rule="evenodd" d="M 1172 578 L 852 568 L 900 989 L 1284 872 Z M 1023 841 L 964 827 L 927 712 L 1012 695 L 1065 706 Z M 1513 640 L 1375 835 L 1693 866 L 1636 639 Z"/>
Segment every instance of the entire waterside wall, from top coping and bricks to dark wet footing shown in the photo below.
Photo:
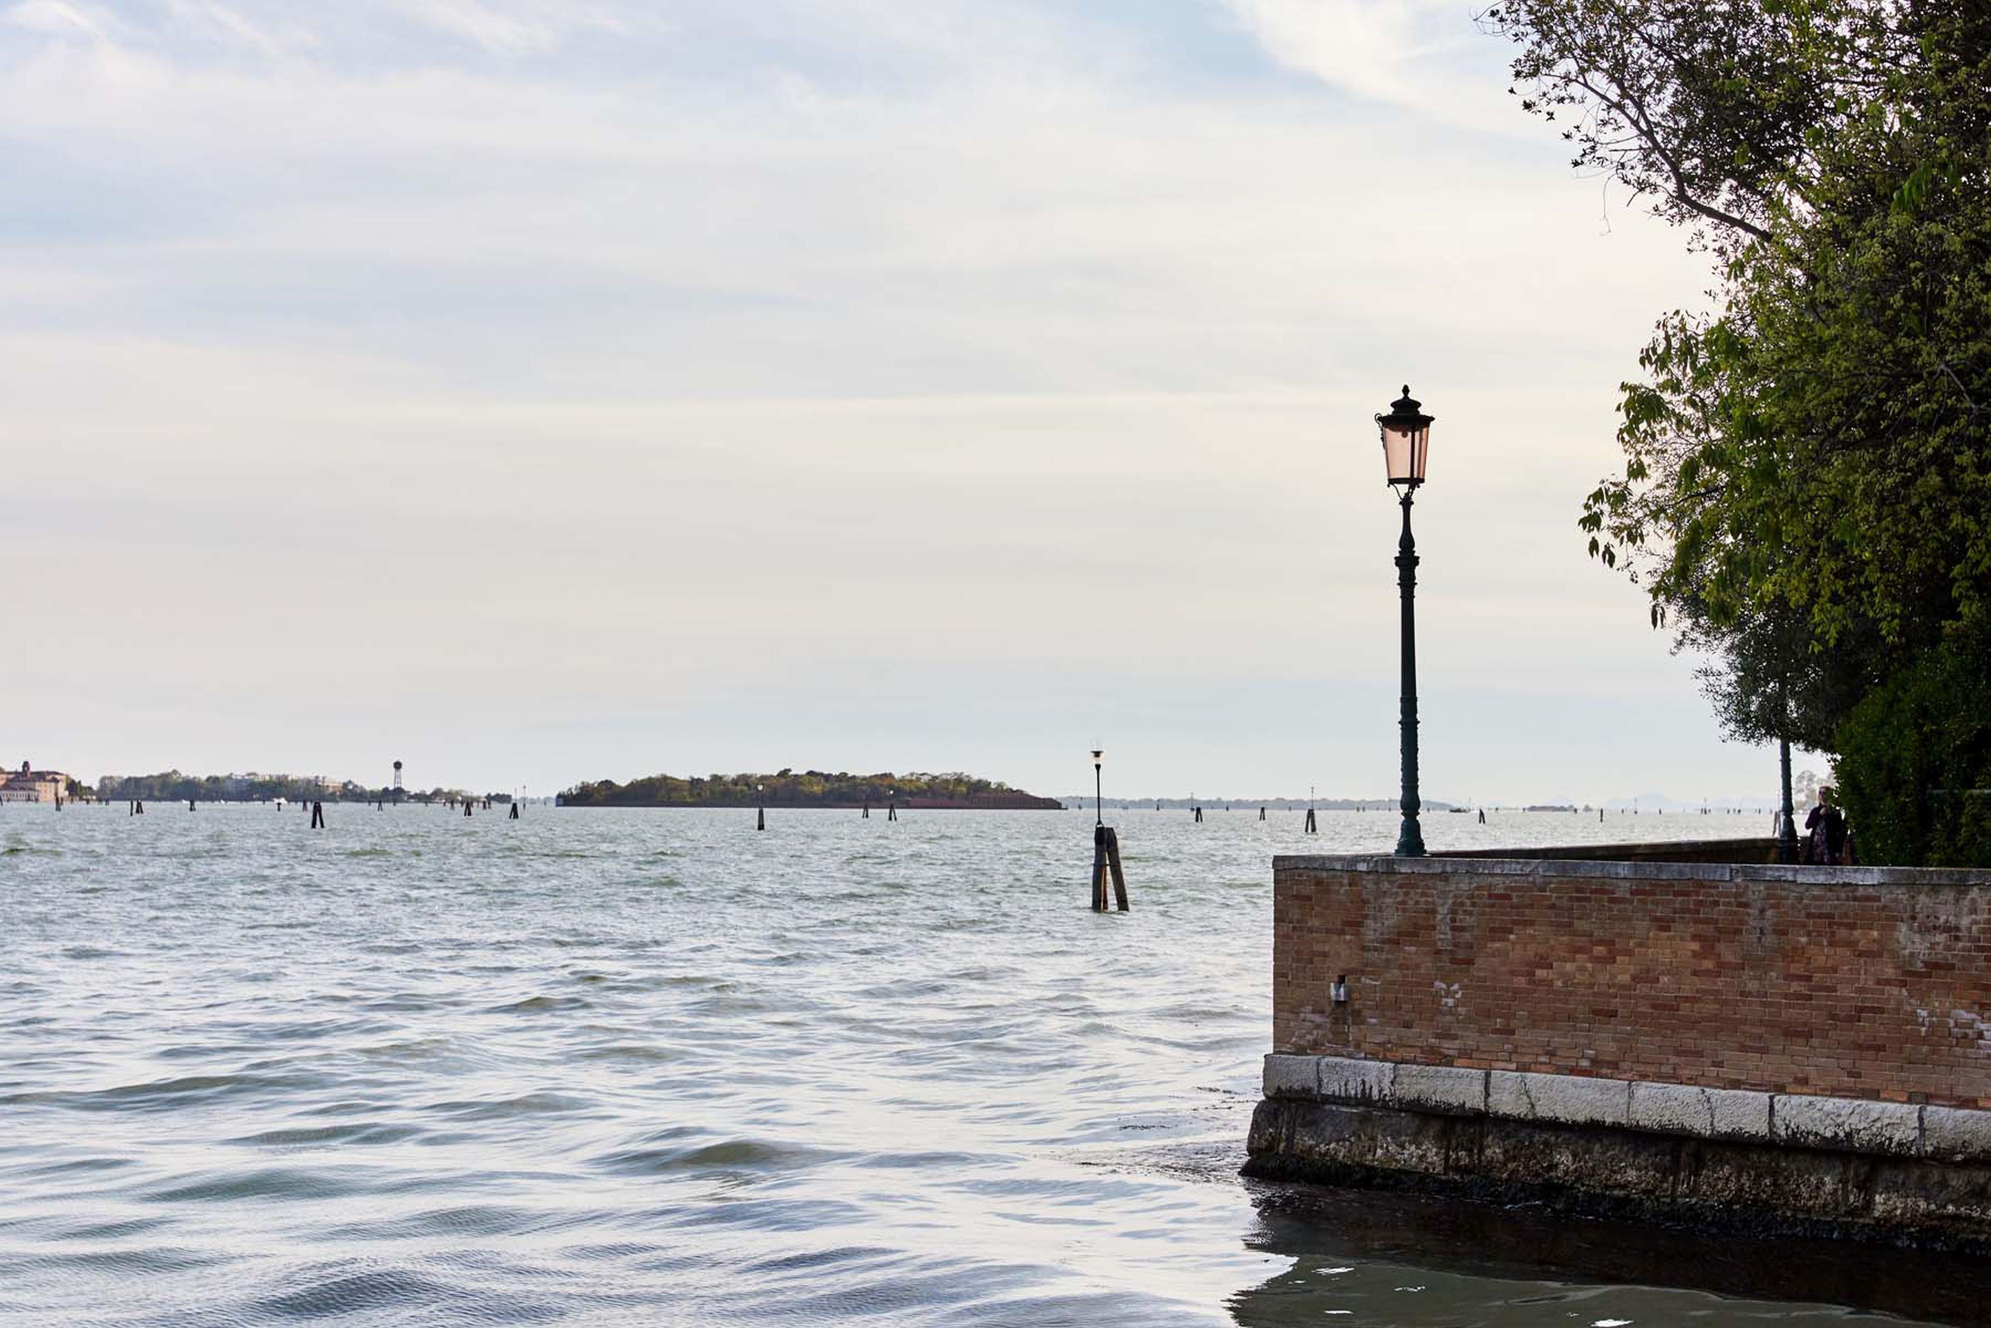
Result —
<path fill-rule="evenodd" d="M 1991 1240 L 1991 872 L 1274 860 L 1248 1171 Z"/>

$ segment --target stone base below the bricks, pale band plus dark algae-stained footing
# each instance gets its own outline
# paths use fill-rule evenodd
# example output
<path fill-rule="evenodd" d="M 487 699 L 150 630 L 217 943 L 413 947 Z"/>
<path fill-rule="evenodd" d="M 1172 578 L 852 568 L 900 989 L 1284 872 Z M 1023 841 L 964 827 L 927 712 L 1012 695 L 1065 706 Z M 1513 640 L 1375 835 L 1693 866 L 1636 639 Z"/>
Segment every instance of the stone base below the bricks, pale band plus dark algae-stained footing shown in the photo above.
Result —
<path fill-rule="evenodd" d="M 1270 1055 L 1246 1175 L 1991 1250 L 1991 1111 Z"/>

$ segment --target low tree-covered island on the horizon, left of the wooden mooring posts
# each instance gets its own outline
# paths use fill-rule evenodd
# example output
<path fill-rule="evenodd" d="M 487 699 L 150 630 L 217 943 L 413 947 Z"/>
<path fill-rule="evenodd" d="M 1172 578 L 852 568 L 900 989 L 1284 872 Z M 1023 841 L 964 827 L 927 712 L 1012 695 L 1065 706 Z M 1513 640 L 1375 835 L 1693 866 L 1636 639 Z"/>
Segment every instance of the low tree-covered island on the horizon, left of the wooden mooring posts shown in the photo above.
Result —
<path fill-rule="evenodd" d="M 888 806 L 956 810 L 1063 810 L 1057 798 L 972 775 L 850 775 L 776 771 L 773 775 L 651 775 L 617 784 L 575 784 L 559 806 Z"/>

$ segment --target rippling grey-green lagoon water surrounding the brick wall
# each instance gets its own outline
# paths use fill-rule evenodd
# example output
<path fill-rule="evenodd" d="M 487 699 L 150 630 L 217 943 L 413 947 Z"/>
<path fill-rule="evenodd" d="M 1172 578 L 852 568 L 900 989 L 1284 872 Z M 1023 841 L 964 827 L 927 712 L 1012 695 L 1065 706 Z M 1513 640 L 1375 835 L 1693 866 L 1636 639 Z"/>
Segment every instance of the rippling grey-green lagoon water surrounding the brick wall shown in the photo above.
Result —
<path fill-rule="evenodd" d="M 0 806 L 6 1324 L 1975 1322 L 1977 1264 L 1238 1181 L 1390 814 Z M 1438 846 L 1762 816 L 1428 816 Z M 1866 1308 L 1848 1308 L 1866 1306 Z"/>

